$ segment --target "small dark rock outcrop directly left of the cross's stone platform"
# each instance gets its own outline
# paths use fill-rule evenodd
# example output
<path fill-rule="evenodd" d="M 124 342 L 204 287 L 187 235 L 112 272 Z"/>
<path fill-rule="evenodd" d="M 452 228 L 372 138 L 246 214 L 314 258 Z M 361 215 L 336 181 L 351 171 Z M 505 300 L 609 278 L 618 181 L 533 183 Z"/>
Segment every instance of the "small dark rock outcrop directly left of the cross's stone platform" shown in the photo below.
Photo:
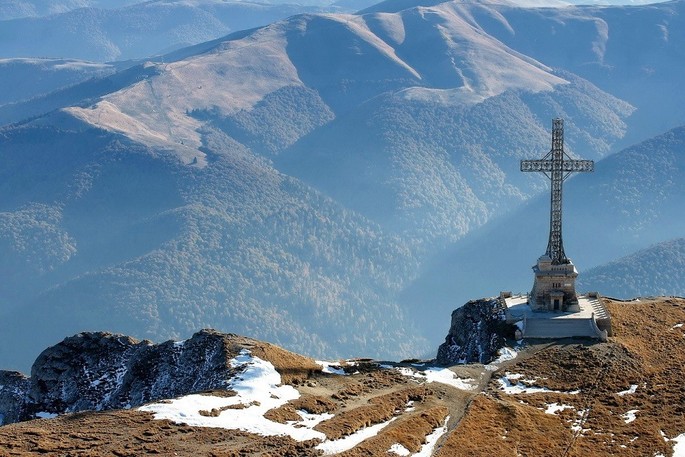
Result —
<path fill-rule="evenodd" d="M 513 336 L 514 327 L 505 322 L 499 300 L 472 300 L 452 312 L 450 330 L 436 359 L 441 365 L 489 363 L 506 338 Z"/>

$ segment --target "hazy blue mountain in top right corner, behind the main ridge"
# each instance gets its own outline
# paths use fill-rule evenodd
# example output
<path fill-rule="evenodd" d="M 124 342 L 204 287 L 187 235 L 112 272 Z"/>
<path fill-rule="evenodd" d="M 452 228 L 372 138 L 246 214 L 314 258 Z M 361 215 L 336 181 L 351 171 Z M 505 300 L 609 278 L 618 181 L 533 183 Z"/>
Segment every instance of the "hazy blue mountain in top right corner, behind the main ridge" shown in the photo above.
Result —
<path fill-rule="evenodd" d="M 475 2 L 460 8 L 510 48 L 571 71 L 636 107 L 620 143 L 627 147 L 685 124 L 685 93 L 680 90 L 685 2 L 623 3 L 627 5 L 519 8 Z"/>

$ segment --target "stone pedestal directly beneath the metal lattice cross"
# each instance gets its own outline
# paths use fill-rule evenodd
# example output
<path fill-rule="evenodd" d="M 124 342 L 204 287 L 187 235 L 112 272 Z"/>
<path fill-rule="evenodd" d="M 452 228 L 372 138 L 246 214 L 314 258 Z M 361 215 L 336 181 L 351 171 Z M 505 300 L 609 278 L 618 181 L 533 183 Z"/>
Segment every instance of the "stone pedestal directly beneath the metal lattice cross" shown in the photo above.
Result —
<path fill-rule="evenodd" d="M 578 271 L 569 259 L 568 263 L 553 264 L 543 255 L 533 267 L 535 282 L 530 293 L 533 311 L 577 312 L 576 278 Z"/>

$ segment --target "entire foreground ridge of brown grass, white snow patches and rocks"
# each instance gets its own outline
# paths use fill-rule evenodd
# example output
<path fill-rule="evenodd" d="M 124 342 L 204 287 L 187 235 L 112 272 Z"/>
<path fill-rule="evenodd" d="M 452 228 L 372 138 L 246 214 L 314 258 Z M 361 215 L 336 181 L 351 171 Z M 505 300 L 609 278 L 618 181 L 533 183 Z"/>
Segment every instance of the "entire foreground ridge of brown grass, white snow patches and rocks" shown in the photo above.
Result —
<path fill-rule="evenodd" d="M 36 410 L 44 419 L 0 427 L 0 445 L 8 455 L 197 455 L 220 449 L 268 450 L 277 456 L 507 456 L 516 450 L 527 455 L 679 456 L 685 450 L 677 369 L 683 364 L 685 301 L 605 302 L 615 331 L 608 342 L 524 341 L 496 360 L 484 360 L 485 365 L 449 368 L 416 359 L 314 362 L 268 343 L 212 331 L 156 347 L 124 336 L 77 335 L 46 350 L 40 358 L 45 363 L 34 367 L 32 378 L 45 378 L 35 385 L 49 401 L 67 398 L 77 382 L 82 399 L 107 397 L 114 374 L 120 384 L 143 390 L 146 376 L 157 376 L 160 387 L 182 384 L 183 377 L 165 378 L 164 373 L 174 364 L 207 369 L 202 360 L 186 363 L 192 351 L 211 354 L 209 369 L 216 379 L 226 375 L 225 384 L 200 395 L 183 392 L 141 408 L 107 412 L 64 414 L 59 408 L 65 405 L 56 402 L 56 417 Z M 476 334 L 477 327 L 473 322 L 466 332 Z M 117 341 L 123 345 L 115 351 L 98 349 Z M 89 349 L 76 350 L 81 343 Z M 166 356 L 145 364 L 152 370 L 98 366 L 98 358 L 116 358 L 134 347 L 131 343 L 144 346 L 148 355 L 148 349 L 164 349 Z M 222 349 L 215 351 L 217 343 Z M 181 356 L 174 359 L 171 353 Z M 89 362 L 83 365 L 83 360 Z M 0 372 L 4 383 L 11 377 Z M 0 386 L 0 402 L 7 401 L 6 387 Z M 190 392 L 194 389 L 203 386 Z"/>

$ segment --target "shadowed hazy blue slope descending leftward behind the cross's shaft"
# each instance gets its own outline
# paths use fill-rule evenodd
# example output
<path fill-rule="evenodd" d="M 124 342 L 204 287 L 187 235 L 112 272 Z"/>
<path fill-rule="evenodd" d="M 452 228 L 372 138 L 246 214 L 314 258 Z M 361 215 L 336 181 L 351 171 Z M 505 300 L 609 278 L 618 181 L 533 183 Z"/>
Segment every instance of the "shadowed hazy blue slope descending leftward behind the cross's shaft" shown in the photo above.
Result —
<path fill-rule="evenodd" d="M 571 135 L 568 130 L 567 135 Z M 635 266 L 640 269 L 639 280 L 637 271 L 616 270 L 610 274 L 616 281 L 612 286 L 602 279 L 608 278 L 609 266 L 591 270 L 588 276 L 585 271 L 685 233 L 684 174 L 685 127 L 680 127 L 611 155 L 595 165 L 594 173 L 564 183 L 564 246 L 580 270 L 581 291 L 624 297 L 633 292 L 677 294 L 681 290 L 678 287 L 669 292 L 674 278 L 681 274 L 677 262 L 666 261 L 658 268 L 654 262 Z M 492 221 L 429 262 L 420 278 L 405 290 L 407 302 L 445 312 L 453 300 L 497 295 L 499 290 L 494 288 L 529 291 L 533 284 L 530 267 L 547 246 L 548 192 Z M 677 247 L 677 243 L 666 246 Z M 628 260 L 622 259 L 619 264 Z M 621 278 L 622 274 L 626 277 Z M 640 292 L 638 287 L 617 293 L 619 284 L 632 281 L 649 284 L 643 290 L 653 292 Z"/>

